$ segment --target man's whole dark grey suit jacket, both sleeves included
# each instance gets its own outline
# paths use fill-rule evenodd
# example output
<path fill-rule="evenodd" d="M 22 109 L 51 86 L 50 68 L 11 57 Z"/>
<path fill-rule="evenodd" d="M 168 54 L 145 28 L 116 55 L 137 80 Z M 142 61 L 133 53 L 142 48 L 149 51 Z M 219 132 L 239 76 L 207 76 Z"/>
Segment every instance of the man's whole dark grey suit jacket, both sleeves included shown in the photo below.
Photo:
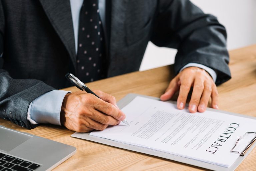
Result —
<path fill-rule="evenodd" d="M 139 70 L 152 41 L 178 49 L 176 73 L 195 62 L 214 69 L 217 84 L 231 78 L 225 28 L 189 0 L 106 0 L 106 10 L 108 77 Z M 30 102 L 76 74 L 69 0 L 1 0 L 0 54 L 0 118 L 31 129 Z"/>

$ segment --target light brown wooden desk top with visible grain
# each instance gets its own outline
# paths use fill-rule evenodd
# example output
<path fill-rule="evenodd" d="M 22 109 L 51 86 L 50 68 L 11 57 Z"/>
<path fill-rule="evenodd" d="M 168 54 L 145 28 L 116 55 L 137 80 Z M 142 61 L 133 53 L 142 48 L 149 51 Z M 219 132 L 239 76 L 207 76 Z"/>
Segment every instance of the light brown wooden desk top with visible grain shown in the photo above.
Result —
<path fill-rule="evenodd" d="M 232 79 L 218 87 L 219 108 L 256 117 L 256 45 L 230 51 Z M 143 72 L 134 72 L 92 83 L 89 87 L 100 89 L 120 100 L 128 93 L 159 97 L 173 78 L 173 66 L 165 66 Z M 71 87 L 65 90 L 78 91 Z M 64 170 L 205 170 L 199 167 L 162 159 L 150 155 L 123 150 L 95 142 L 70 137 L 73 131 L 54 125 L 42 125 L 27 130 L 0 119 L 0 125 L 31 133 L 77 148 L 77 153 L 56 167 Z M 237 170 L 255 170 L 256 149 Z"/>

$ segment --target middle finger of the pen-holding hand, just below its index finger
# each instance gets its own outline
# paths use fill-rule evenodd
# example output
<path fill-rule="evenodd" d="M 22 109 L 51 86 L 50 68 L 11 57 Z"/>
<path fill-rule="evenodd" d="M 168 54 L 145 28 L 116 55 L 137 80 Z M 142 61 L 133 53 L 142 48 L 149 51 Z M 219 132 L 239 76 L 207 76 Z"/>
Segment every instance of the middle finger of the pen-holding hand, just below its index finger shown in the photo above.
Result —
<path fill-rule="evenodd" d="M 117 125 L 120 121 L 113 118 L 112 116 L 101 113 L 97 110 L 93 110 L 89 116 L 92 120 L 102 123 L 104 125 Z"/>

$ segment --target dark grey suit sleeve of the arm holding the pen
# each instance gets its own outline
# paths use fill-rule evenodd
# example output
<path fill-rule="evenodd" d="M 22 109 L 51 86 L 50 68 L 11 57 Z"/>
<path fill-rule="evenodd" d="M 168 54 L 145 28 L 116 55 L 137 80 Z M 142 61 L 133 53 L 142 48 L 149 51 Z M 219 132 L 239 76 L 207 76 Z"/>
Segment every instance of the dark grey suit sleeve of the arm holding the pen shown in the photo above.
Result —
<path fill-rule="evenodd" d="M 13 79 L 8 71 L 2 69 L 4 58 L 8 58 L 4 55 L 4 23 L 4 10 L 0 1 L 0 118 L 31 129 L 36 125 L 27 120 L 29 104 L 54 88 L 35 79 Z"/>

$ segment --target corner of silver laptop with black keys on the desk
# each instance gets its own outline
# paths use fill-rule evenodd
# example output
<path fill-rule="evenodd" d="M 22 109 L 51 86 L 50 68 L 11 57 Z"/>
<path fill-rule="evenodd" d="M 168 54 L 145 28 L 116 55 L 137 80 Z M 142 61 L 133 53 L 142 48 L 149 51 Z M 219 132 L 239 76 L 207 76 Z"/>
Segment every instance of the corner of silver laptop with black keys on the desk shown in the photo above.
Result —
<path fill-rule="evenodd" d="M 0 126 L 0 171 L 52 170 L 76 148 Z"/>

